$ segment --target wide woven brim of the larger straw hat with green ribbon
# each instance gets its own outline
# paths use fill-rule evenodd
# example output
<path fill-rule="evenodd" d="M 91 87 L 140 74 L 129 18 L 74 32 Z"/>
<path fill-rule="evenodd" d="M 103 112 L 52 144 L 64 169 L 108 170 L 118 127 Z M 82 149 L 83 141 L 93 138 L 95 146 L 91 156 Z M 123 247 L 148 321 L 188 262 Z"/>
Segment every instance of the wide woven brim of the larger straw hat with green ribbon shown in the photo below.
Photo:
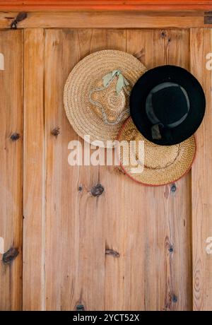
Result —
<path fill-rule="evenodd" d="M 105 124 L 102 117 L 95 113 L 89 101 L 89 93 L 102 76 L 119 69 L 124 78 L 129 81 L 131 88 L 143 73 L 146 67 L 131 54 L 117 50 L 102 50 L 88 55 L 78 62 L 72 69 L 64 86 L 64 107 L 74 131 L 81 136 L 90 136 L 86 139 L 90 143 L 114 141 L 123 122 L 115 125 Z"/>

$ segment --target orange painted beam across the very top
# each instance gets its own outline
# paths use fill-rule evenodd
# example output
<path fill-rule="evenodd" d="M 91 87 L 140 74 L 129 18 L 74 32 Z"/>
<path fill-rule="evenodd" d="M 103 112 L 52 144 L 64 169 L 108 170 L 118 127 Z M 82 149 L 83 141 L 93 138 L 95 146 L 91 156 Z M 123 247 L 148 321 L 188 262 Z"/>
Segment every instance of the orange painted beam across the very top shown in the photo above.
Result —
<path fill-rule="evenodd" d="M 212 0 L 0 0 L 0 11 L 211 11 Z"/>

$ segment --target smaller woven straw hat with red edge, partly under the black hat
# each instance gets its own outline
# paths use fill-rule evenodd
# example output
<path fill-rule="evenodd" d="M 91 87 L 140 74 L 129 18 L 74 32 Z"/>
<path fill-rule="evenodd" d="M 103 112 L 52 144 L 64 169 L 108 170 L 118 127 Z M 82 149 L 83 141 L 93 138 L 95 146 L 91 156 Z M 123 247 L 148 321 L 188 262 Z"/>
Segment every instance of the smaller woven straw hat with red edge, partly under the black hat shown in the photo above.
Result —
<path fill-rule="evenodd" d="M 136 182 L 150 186 L 177 181 L 190 170 L 196 152 L 194 136 L 173 146 L 159 146 L 146 140 L 136 129 L 131 117 L 122 126 L 118 140 L 124 141 L 120 146 L 119 160 L 126 175 Z M 136 143 L 133 151 L 129 149 L 129 141 Z M 143 160 L 139 156 L 139 141 L 144 144 Z M 135 157 L 133 162 L 130 160 L 131 155 Z"/>

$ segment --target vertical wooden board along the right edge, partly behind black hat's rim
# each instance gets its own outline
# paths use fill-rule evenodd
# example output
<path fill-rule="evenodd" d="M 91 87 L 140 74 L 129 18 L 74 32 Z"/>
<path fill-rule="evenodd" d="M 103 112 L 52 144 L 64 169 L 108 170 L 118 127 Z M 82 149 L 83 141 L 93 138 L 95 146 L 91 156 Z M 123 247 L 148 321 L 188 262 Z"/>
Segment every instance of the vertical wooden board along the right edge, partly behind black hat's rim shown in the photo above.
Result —
<path fill-rule="evenodd" d="M 206 95 L 206 115 L 196 132 L 197 153 L 192 168 L 192 244 L 193 244 L 193 306 L 194 310 L 212 308 L 211 249 L 211 162 L 212 114 L 211 70 L 206 69 L 206 54 L 212 52 L 212 30 L 191 30 L 191 70 Z M 208 62 L 208 68 L 211 65 Z M 207 241 L 208 238 L 208 242 Z"/>

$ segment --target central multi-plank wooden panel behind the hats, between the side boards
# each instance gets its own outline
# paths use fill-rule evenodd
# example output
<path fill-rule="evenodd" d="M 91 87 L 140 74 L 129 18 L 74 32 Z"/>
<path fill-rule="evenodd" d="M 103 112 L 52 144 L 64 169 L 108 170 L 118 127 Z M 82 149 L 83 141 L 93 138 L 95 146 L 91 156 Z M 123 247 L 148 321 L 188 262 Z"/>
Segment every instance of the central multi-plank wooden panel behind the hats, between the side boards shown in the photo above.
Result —
<path fill-rule="evenodd" d="M 148 68 L 188 68 L 189 32 L 47 30 L 45 48 L 47 309 L 191 309 L 190 176 L 172 194 L 141 187 L 117 167 L 69 166 L 68 143 L 78 136 L 63 107 L 69 71 L 90 52 L 122 49 Z M 105 191 L 94 198 L 98 182 Z"/>

